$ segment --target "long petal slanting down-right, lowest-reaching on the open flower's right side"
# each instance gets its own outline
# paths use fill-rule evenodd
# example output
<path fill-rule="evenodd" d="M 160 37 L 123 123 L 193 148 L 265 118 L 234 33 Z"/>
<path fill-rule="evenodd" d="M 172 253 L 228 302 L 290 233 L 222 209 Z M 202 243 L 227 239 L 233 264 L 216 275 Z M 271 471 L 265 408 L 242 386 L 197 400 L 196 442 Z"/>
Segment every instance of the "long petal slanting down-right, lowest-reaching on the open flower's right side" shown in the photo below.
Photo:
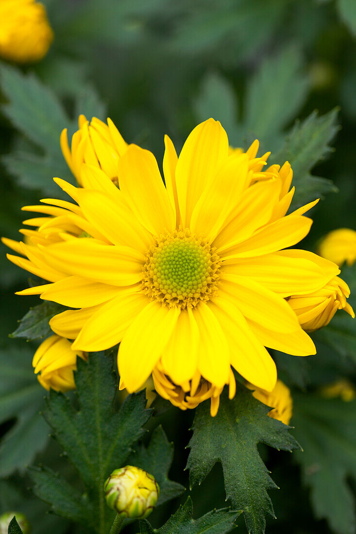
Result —
<path fill-rule="evenodd" d="M 210 308 L 225 332 L 231 365 L 254 386 L 272 391 L 277 381 L 276 365 L 241 311 L 224 297 L 213 299 Z"/>

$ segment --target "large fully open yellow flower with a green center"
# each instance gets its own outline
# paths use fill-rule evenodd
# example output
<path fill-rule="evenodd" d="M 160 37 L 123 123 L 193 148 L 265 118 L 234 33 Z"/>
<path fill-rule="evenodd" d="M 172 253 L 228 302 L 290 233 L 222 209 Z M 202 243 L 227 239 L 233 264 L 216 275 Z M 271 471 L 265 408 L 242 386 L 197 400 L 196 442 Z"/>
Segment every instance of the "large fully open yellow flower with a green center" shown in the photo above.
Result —
<path fill-rule="evenodd" d="M 315 202 L 285 216 L 289 164 L 263 171 L 268 154 L 256 157 L 258 142 L 229 154 L 213 119 L 190 133 L 179 158 L 168 137 L 165 145 L 166 186 L 153 154 L 136 145 L 117 159 L 119 188 L 96 163 L 82 163 L 82 188 L 56 179 L 77 204 L 45 200 L 54 207 L 41 207 L 51 217 L 40 218 L 38 233 L 52 228 L 57 242 L 40 243 L 34 232 L 33 246 L 15 245 L 27 259 L 11 261 L 52 282 L 21 293 L 76 308 L 50 321 L 75 339 L 73 348 L 120 343 L 130 392 L 153 372 L 156 384 L 172 383 L 166 395 L 183 391 L 189 407 L 206 391 L 215 398 L 233 387 L 231 368 L 271 391 L 276 367 L 265 347 L 315 354 L 285 299 L 318 291 L 339 273 L 331 262 L 326 273 L 315 254 L 284 250 L 308 233 L 304 213 Z"/>

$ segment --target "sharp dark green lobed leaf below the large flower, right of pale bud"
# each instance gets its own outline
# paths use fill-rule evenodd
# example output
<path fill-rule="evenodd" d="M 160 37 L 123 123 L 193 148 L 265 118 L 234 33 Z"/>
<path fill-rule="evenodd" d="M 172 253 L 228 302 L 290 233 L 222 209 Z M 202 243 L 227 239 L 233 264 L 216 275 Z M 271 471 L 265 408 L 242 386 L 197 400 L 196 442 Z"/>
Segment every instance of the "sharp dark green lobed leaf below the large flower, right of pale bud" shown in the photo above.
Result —
<path fill-rule="evenodd" d="M 207 403 L 200 404 L 196 411 L 187 464 L 190 481 L 200 484 L 220 462 L 227 499 L 243 511 L 247 530 L 260 534 L 265 532 L 265 515 L 274 516 L 267 490 L 277 486 L 259 456 L 257 444 L 286 451 L 299 445 L 288 433 L 289 427 L 268 417 L 269 408 L 243 386 L 238 386 L 233 400 L 226 393 L 220 399 L 216 417 L 211 417 Z"/>

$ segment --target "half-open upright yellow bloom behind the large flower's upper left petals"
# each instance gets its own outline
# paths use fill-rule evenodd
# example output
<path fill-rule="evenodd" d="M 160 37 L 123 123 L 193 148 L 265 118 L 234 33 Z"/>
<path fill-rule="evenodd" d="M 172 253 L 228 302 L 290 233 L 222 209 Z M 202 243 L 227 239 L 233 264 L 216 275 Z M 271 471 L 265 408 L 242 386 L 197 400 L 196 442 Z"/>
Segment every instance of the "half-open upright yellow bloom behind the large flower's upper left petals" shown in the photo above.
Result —
<path fill-rule="evenodd" d="M 125 153 L 127 144 L 111 119 L 107 124 L 93 117 L 91 122 L 84 115 L 79 117 L 79 130 L 68 144 L 67 128 L 60 136 L 60 146 L 69 169 L 79 185 L 83 185 L 81 170 L 83 163 L 102 169 L 113 182 L 118 182 L 118 161 Z"/>

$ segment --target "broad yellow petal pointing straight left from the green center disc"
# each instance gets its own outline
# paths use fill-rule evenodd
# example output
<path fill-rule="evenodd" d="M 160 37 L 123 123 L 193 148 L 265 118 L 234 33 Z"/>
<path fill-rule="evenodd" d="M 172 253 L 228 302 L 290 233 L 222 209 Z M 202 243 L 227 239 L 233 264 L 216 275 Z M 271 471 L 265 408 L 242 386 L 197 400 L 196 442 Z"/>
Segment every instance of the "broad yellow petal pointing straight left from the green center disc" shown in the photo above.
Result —
<path fill-rule="evenodd" d="M 133 248 L 101 245 L 90 238 L 45 247 L 50 265 L 89 280 L 114 286 L 130 286 L 142 279 L 144 257 Z"/>

